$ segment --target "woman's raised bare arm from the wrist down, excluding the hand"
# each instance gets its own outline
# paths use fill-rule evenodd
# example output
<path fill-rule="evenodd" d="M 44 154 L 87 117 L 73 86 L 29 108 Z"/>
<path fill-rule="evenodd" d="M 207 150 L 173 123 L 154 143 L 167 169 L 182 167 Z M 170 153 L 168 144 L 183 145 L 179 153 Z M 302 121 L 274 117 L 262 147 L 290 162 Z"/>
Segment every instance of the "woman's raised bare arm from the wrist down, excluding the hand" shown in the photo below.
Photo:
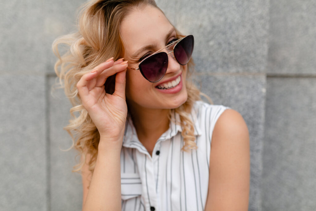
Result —
<path fill-rule="evenodd" d="M 93 175 L 91 176 L 88 170 L 88 161 L 82 169 L 82 210 L 119 211 L 121 210 L 121 146 L 116 145 L 115 142 L 100 140 L 100 143 L 102 146 L 99 144 Z"/>

